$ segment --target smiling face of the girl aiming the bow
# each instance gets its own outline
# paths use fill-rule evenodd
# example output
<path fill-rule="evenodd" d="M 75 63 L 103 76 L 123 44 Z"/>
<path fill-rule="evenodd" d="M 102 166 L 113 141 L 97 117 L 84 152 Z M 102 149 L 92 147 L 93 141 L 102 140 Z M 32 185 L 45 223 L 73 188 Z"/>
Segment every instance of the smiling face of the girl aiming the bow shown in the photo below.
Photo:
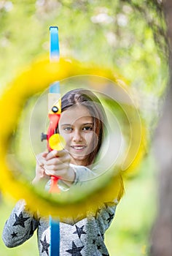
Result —
<path fill-rule="evenodd" d="M 74 165 L 85 165 L 88 154 L 93 151 L 93 117 L 82 105 L 63 111 L 58 124 L 60 135 L 66 140 L 65 149 Z"/>

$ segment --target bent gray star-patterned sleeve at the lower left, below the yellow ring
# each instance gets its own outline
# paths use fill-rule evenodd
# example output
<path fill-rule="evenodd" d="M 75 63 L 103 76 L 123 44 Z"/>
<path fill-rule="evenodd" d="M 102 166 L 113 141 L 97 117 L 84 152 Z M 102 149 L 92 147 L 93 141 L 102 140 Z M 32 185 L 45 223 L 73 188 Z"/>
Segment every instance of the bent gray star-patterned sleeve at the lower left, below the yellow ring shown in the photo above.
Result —
<path fill-rule="evenodd" d="M 2 233 L 4 244 L 10 248 L 23 244 L 33 236 L 37 227 L 38 221 L 33 214 L 26 211 L 25 201 L 18 201 L 4 225 Z"/>

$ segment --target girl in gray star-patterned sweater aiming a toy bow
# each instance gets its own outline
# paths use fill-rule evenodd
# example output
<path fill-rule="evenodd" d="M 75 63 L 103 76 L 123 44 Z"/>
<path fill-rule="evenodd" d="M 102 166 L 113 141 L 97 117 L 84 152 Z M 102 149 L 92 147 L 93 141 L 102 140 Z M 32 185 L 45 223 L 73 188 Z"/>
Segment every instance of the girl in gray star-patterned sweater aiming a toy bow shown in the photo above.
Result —
<path fill-rule="evenodd" d="M 91 167 L 101 148 L 106 115 L 98 97 L 85 89 L 69 91 L 62 97 L 61 106 L 57 129 L 65 138 L 66 147 L 63 151 L 43 152 L 37 156 L 33 184 L 50 176 L 60 176 L 58 187 L 64 191 L 95 178 Z M 50 187 L 50 181 L 47 187 Z M 104 233 L 114 218 L 120 195 L 113 202 L 105 202 L 93 217 L 60 222 L 60 256 L 109 255 Z M 50 255 L 49 220 L 29 213 L 25 201 L 20 200 L 4 226 L 4 244 L 8 247 L 23 244 L 36 229 L 39 255 Z"/>

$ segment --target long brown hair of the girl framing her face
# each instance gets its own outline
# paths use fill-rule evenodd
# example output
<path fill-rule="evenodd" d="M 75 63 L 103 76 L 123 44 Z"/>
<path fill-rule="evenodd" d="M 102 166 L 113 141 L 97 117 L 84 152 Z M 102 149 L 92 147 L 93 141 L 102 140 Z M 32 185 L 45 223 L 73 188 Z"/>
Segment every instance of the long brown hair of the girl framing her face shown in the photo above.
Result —
<path fill-rule="evenodd" d="M 61 99 L 61 112 L 76 105 L 87 108 L 90 116 L 93 117 L 93 129 L 98 141 L 93 140 L 93 151 L 87 156 L 86 165 L 91 165 L 101 148 L 104 136 L 104 123 L 106 123 L 106 113 L 103 106 L 95 94 L 87 89 L 74 89 L 67 92 Z"/>

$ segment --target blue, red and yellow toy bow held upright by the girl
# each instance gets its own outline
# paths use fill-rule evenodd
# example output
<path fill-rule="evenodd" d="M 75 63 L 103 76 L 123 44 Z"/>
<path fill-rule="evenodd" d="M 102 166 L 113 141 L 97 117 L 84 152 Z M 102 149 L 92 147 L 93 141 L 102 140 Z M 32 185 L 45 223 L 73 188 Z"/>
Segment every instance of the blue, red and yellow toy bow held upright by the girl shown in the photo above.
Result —
<path fill-rule="evenodd" d="M 59 43 L 58 43 L 58 27 L 50 26 L 50 61 L 59 60 Z M 47 135 L 42 134 L 42 140 L 47 140 L 47 149 L 62 150 L 64 147 L 64 140 L 56 133 L 58 121 L 61 113 L 60 100 L 60 83 L 55 82 L 50 85 L 48 94 L 48 118 L 50 120 L 47 129 Z M 58 179 L 60 177 L 51 176 L 50 193 L 59 193 Z M 60 225 L 58 220 L 50 217 L 50 256 L 60 255 Z"/>

